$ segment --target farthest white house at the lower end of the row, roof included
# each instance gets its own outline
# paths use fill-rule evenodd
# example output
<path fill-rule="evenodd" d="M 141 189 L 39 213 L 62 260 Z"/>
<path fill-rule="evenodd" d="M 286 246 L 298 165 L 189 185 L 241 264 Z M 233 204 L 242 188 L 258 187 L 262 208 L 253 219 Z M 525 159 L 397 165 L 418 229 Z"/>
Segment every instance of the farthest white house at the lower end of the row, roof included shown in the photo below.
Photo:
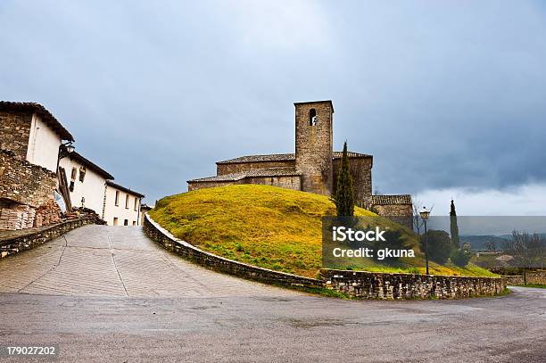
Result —
<path fill-rule="evenodd" d="M 144 197 L 144 194 L 106 180 L 102 218 L 110 226 L 139 226 L 140 204 Z"/>

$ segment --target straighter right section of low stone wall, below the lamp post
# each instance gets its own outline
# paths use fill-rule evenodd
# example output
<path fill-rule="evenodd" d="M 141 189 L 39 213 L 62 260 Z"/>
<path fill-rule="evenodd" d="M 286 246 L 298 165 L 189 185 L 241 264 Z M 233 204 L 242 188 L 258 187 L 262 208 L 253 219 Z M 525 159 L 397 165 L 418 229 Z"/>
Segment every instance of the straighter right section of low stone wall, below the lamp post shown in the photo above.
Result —
<path fill-rule="evenodd" d="M 387 274 L 322 269 L 328 289 L 365 299 L 458 299 L 496 295 L 506 288 L 501 277 Z"/>

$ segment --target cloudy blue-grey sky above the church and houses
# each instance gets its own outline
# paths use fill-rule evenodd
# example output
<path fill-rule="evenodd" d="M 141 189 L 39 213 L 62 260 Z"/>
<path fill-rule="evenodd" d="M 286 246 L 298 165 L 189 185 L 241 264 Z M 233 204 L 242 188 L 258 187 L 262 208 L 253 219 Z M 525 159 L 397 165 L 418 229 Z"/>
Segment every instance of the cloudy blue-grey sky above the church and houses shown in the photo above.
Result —
<path fill-rule="evenodd" d="M 43 104 L 149 204 L 293 153 L 293 103 L 331 99 L 374 190 L 546 215 L 541 1 L 4 0 L 0 49 L 0 99 Z"/>

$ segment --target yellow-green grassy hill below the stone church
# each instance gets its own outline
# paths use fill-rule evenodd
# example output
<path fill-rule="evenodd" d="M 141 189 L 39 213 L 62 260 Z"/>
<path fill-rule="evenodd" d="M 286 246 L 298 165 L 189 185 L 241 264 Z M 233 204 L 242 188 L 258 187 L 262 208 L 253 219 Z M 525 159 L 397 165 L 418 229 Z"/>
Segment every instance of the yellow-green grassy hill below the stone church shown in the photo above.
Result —
<path fill-rule="evenodd" d="M 326 196 L 275 186 L 222 186 L 161 199 L 150 211 L 152 218 L 179 239 L 228 259 L 316 277 L 321 268 L 321 217 L 334 216 L 335 205 Z M 355 215 L 376 218 L 357 208 Z M 415 237 L 399 228 L 408 245 L 418 251 Z M 414 260 L 415 264 L 416 261 Z M 424 266 L 422 256 L 417 263 Z M 376 265 L 353 269 L 424 273 L 411 263 L 393 268 Z M 482 268 L 444 267 L 431 264 L 438 275 L 492 276 Z"/>

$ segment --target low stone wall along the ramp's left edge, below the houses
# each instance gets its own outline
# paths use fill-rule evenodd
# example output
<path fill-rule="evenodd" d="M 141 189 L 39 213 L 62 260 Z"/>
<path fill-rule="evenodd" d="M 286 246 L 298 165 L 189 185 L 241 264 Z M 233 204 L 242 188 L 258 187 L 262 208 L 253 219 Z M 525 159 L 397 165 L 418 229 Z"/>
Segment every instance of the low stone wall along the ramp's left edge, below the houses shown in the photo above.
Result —
<path fill-rule="evenodd" d="M 0 256 L 3 258 L 17 252 L 33 249 L 44 244 L 59 235 L 85 225 L 95 224 L 96 219 L 84 217 L 80 219 L 69 219 L 67 221 L 42 228 L 31 228 L 28 233 L 20 233 L 8 237 L 0 235 Z"/>

